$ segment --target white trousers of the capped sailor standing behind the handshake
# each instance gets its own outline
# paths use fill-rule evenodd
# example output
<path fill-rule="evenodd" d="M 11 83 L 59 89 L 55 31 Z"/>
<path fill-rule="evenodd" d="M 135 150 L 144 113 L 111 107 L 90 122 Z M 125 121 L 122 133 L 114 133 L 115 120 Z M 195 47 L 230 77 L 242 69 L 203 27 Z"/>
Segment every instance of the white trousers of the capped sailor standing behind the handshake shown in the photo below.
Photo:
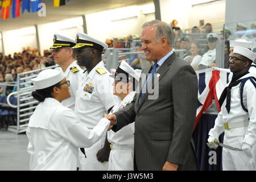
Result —
<path fill-rule="evenodd" d="M 109 155 L 109 171 L 134 171 L 134 148 L 113 145 Z"/>

